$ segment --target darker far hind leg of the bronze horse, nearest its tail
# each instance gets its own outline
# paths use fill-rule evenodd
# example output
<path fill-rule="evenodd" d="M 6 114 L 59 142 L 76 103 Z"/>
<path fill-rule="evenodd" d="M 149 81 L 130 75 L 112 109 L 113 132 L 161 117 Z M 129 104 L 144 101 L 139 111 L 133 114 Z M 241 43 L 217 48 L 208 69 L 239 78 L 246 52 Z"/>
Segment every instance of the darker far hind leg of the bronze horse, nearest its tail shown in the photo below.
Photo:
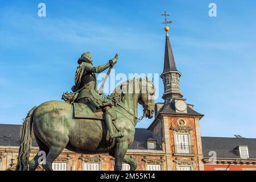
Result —
<path fill-rule="evenodd" d="M 35 133 L 34 133 L 34 135 L 35 135 Z M 39 160 L 43 159 L 43 157 L 45 157 L 48 154 L 48 151 L 49 151 L 49 148 L 46 146 L 46 144 L 44 144 L 38 137 L 36 137 L 36 135 L 35 135 L 35 139 L 36 139 L 36 143 L 38 143 L 39 152 L 29 162 L 29 170 L 30 171 L 35 171 L 36 167 L 38 167 Z"/>

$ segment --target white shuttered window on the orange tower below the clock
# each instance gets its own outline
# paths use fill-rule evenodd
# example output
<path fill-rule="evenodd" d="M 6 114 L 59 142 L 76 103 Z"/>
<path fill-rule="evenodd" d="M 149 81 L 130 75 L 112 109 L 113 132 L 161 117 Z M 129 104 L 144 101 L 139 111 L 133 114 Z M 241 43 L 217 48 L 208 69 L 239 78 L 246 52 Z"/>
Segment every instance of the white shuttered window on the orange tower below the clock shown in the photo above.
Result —
<path fill-rule="evenodd" d="M 175 152 L 179 154 L 189 154 L 188 134 L 176 134 Z"/>

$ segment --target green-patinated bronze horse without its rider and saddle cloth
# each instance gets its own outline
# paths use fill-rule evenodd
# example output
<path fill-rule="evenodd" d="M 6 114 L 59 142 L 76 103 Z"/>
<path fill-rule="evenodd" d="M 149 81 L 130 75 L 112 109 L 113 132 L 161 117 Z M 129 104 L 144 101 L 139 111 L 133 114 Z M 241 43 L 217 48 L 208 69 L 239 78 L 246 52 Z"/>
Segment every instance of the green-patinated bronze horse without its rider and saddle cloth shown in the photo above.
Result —
<path fill-rule="evenodd" d="M 122 163 L 130 165 L 130 171 L 137 168 L 137 162 L 126 155 L 133 143 L 135 126 L 143 117 L 152 118 L 155 105 L 155 87 L 147 78 L 133 78 L 119 84 L 109 96 L 115 103 L 113 120 L 115 129 L 122 131 L 122 138 L 111 139 L 102 119 L 77 118 L 74 106 L 63 101 L 48 101 L 33 107 L 23 122 L 17 171 L 34 171 L 46 152 L 42 167 L 53 171 L 52 162 L 64 148 L 81 154 L 108 153 L 115 159 L 114 170 L 121 171 Z M 138 103 L 143 106 L 143 117 L 138 118 Z M 39 152 L 29 162 L 32 133 L 39 146 Z"/>

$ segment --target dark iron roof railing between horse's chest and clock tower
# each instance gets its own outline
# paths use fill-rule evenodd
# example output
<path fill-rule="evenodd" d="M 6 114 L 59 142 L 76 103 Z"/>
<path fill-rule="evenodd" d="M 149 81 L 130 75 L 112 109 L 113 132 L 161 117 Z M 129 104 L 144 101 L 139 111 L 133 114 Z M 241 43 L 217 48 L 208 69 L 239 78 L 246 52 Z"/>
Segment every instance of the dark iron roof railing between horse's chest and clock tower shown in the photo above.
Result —
<path fill-rule="evenodd" d="M 131 150 L 163 150 L 162 143 L 159 142 L 138 142 L 133 141 L 129 147 Z"/>

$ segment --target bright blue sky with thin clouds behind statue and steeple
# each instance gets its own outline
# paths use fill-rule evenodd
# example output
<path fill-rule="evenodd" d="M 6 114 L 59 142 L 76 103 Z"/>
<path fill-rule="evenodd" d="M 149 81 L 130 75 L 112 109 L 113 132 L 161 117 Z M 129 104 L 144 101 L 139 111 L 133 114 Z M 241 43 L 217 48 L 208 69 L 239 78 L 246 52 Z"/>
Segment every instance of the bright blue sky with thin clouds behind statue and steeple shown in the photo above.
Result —
<path fill-rule="evenodd" d="M 46 3 L 46 17 L 38 3 Z M 208 5 L 217 4 L 217 17 Z M 70 91 L 77 58 L 119 54 L 116 73 L 162 73 L 164 9 L 184 98 L 205 114 L 201 135 L 256 138 L 255 1 L 1 1 L 0 123 Z M 163 84 L 160 80 L 160 95 Z M 162 102 L 162 98 L 156 102 Z M 141 113 L 139 113 L 141 114 Z M 148 127 L 144 119 L 137 127 Z"/>

